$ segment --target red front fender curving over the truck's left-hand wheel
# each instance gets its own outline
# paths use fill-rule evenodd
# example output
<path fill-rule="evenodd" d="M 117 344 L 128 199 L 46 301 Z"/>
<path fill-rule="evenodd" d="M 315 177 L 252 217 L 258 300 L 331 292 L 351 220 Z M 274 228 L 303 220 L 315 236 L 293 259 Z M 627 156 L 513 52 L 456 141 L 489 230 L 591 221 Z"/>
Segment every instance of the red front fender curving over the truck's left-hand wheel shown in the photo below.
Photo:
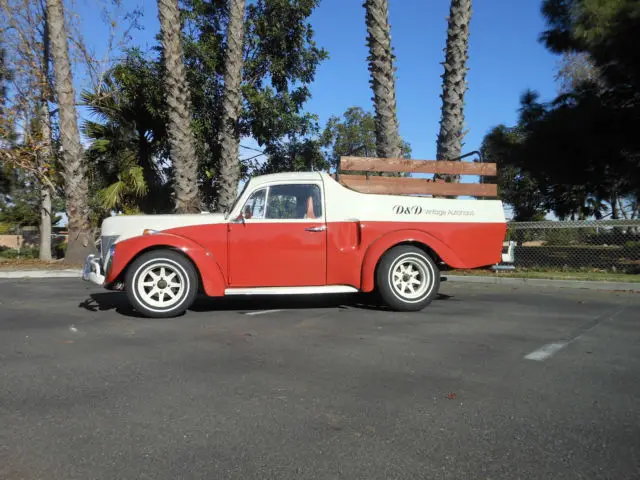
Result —
<path fill-rule="evenodd" d="M 120 277 L 127 266 L 142 252 L 162 247 L 178 250 L 194 263 L 200 272 L 202 287 L 207 295 L 212 297 L 224 295 L 225 277 L 213 254 L 193 240 L 162 232 L 128 238 L 116 243 L 105 283 L 112 283 Z"/>

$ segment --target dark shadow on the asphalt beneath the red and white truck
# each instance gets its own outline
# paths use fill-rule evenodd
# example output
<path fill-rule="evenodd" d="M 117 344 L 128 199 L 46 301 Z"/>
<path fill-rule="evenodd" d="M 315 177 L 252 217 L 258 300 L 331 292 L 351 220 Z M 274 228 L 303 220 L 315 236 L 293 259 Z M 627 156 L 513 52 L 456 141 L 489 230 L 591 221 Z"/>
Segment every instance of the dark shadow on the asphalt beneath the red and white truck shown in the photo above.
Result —
<path fill-rule="evenodd" d="M 438 300 L 451 298 L 450 295 L 438 295 Z M 92 293 L 80 302 L 79 308 L 89 312 L 114 310 L 120 315 L 144 318 L 131 307 L 124 292 Z M 338 310 L 358 309 L 388 311 L 388 307 L 375 294 L 333 294 L 333 295 L 247 295 L 212 298 L 199 296 L 189 310 L 193 312 L 237 312 L 245 314 L 261 310 L 311 310 L 336 308 Z"/>

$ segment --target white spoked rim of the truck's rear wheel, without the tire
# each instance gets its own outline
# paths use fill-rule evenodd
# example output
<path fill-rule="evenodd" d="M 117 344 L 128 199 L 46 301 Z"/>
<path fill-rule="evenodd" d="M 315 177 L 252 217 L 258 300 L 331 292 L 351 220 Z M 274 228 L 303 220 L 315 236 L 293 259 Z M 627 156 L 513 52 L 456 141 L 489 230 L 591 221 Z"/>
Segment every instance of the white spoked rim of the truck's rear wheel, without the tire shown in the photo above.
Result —
<path fill-rule="evenodd" d="M 431 269 L 418 255 L 402 255 L 389 269 L 389 285 L 393 294 L 401 300 L 419 301 L 428 295 L 433 286 Z"/>

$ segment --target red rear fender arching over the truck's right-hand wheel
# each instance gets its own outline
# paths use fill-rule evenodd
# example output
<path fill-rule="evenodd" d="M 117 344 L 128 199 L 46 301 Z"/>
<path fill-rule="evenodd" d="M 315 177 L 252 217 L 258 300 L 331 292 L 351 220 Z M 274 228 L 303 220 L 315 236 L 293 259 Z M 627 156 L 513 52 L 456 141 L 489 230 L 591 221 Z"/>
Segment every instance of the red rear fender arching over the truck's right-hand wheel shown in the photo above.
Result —
<path fill-rule="evenodd" d="M 360 288 L 363 292 L 371 292 L 374 289 L 376 265 L 378 265 L 380 257 L 382 257 L 382 255 L 394 245 L 407 242 L 416 242 L 426 245 L 447 265 L 454 268 L 458 265 L 463 265 L 463 262 L 451 248 L 425 231 L 397 230 L 395 232 L 389 232 L 373 242 L 365 253 L 362 261 Z"/>

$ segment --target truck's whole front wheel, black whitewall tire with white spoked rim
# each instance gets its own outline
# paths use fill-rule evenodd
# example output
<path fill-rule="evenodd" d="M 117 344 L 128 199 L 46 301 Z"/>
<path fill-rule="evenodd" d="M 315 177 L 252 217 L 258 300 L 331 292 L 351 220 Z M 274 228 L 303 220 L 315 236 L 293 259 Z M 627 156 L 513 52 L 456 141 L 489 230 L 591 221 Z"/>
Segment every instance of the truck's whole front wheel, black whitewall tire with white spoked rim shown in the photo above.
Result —
<path fill-rule="evenodd" d="M 181 253 L 169 249 L 152 250 L 129 265 L 125 289 L 131 306 L 144 316 L 176 317 L 191 307 L 198 295 L 198 272 Z M 154 289 L 157 293 L 152 294 Z M 165 298 L 168 299 L 166 302 Z"/>

